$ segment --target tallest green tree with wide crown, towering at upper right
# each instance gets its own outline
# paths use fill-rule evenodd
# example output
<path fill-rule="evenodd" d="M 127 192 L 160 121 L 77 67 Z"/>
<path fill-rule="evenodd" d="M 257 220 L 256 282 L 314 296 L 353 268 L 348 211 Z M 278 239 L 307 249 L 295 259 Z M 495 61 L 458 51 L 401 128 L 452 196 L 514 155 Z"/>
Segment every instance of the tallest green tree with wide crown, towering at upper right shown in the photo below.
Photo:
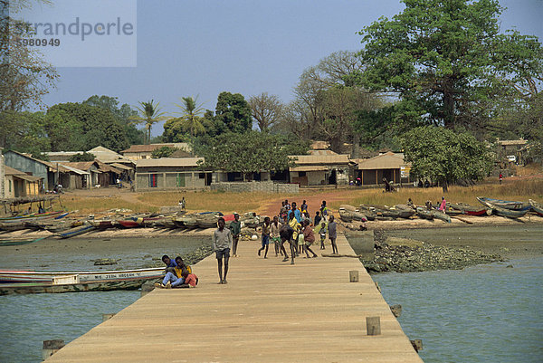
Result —
<path fill-rule="evenodd" d="M 496 0 L 403 0 L 405 10 L 365 27 L 360 52 L 370 90 L 396 92 L 420 118 L 447 128 L 484 128 L 508 71 Z M 508 50 L 509 49 L 509 50 Z M 518 60 L 526 54 L 517 53 Z M 526 63 L 526 62 L 525 62 Z M 511 72 L 516 70 L 509 69 Z"/>

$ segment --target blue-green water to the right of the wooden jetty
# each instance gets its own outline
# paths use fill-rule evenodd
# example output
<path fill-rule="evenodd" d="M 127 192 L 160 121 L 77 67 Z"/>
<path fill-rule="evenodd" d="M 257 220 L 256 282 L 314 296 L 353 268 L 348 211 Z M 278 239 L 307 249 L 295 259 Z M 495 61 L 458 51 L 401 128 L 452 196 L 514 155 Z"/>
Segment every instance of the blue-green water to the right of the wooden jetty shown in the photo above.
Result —
<path fill-rule="evenodd" d="M 424 362 L 543 361 L 543 257 L 372 278 Z"/>

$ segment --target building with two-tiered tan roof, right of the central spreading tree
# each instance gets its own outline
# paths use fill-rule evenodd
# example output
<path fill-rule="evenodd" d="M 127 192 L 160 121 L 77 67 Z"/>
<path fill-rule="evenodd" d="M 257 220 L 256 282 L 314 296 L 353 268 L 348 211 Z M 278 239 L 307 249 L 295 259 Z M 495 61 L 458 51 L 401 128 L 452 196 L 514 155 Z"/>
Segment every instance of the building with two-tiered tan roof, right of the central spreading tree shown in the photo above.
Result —
<path fill-rule="evenodd" d="M 347 154 L 313 149 L 310 155 L 292 155 L 296 164 L 289 168 L 290 183 L 300 186 L 347 185 L 349 159 Z"/>

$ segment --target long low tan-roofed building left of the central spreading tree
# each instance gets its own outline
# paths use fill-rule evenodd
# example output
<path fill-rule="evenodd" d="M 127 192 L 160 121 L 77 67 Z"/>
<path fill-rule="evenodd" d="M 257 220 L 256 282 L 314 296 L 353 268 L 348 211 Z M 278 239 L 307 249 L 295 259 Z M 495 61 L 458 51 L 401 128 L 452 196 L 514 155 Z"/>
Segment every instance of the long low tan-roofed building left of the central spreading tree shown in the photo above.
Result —
<path fill-rule="evenodd" d="M 140 158 L 136 164 L 136 190 L 167 190 L 181 187 L 205 188 L 217 173 L 203 171 L 204 158 Z"/>

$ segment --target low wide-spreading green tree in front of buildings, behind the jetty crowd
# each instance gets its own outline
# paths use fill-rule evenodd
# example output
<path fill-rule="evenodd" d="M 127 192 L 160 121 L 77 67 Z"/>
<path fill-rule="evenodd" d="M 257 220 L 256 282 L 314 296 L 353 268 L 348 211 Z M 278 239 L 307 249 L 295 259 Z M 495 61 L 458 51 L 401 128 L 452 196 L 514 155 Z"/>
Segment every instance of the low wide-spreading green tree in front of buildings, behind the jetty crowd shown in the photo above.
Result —
<path fill-rule="evenodd" d="M 200 148 L 199 155 L 205 158 L 202 167 L 241 172 L 243 180 L 247 173 L 281 171 L 294 164 L 289 158 L 291 148 L 284 145 L 287 139 L 281 136 L 248 131 L 225 133 L 210 141 L 209 145 Z"/>

